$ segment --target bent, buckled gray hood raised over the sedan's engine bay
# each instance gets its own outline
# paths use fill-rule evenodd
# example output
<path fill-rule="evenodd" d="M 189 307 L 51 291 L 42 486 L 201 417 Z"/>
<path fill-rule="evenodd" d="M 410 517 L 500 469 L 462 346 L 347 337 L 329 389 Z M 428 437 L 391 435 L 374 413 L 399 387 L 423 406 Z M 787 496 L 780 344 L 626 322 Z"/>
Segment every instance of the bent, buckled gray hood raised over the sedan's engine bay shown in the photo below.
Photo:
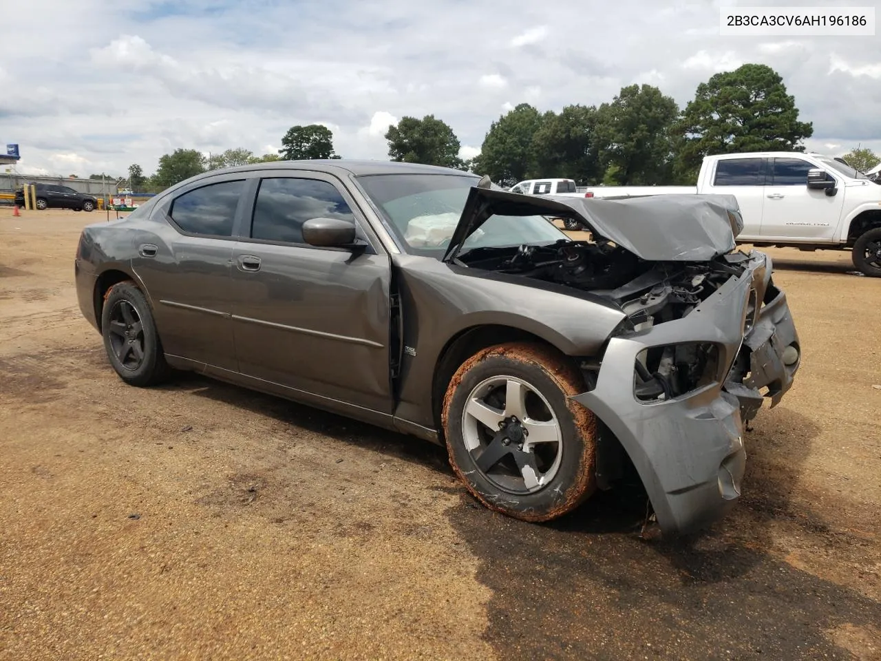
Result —
<path fill-rule="evenodd" d="M 443 261 L 492 216 L 553 216 L 581 221 L 596 238 L 651 262 L 704 262 L 735 249 L 744 228 L 733 195 L 537 197 L 472 188 Z"/>

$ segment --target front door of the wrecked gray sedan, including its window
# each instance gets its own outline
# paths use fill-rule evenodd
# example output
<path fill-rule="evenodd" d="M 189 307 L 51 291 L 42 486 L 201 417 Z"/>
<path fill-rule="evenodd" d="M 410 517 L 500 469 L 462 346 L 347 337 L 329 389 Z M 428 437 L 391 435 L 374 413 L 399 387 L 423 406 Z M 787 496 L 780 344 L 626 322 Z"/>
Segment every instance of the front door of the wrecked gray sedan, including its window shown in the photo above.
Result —
<path fill-rule="evenodd" d="M 364 220 L 330 175 L 290 170 L 259 182 L 233 250 L 233 335 L 241 373 L 391 413 L 389 257 L 315 248 L 307 219 Z"/>

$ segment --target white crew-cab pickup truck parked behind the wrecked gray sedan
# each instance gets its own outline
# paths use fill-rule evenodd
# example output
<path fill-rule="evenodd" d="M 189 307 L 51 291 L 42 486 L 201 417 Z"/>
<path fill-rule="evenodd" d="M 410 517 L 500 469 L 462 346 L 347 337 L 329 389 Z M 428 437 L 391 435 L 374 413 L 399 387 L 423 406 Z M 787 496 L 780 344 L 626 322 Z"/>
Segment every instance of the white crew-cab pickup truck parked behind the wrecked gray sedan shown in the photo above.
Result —
<path fill-rule="evenodd" d="M 802 250 L 849 249 L 859 271 L 881 278 L 881 185 L 817 153 L 707 156 L 697 186 L 597 186 L 586 195 L 688 192 L 737 197 L 744 216 L 737 241 Z"/>

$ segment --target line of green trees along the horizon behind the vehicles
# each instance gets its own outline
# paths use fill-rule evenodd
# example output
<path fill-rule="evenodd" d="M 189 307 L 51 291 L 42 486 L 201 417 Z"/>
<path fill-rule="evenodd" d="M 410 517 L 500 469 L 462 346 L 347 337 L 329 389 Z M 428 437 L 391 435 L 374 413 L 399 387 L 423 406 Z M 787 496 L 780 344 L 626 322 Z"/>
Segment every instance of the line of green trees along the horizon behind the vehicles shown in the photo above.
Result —
<path fill-rule="evenodd" d="M 781 76 L 765 64 L 744 64 L 698 85 L 685 108 L 653 85 L 627 85 L 599 106 L 574 104 L 559 113 L 521 103 L 487 131 L 478 156 L 459 157 L 454 130 L 434 115 L 404 116 L 385 134 L 389 159 L 490 175 L 502 186 L 524 179 L 568 178 L 581 185 L 693 184 L 711 154 L 804 150 L 813 125 L 798 119 Z M 333 133 L 320 124 L 292 126 L 278 154 L 241 147 L 209 154 L 176 149 L 144 176 L 129 168 L 133 189 L 159 191 L 218 167 L 273 160 L 339 159 Z M 879 158 L 867 149 L 845 157 L 858 170 Z M 93 175 L 94 176 L 94 175 Z M 100 178 L 101 175 L 97 175 Z"/>

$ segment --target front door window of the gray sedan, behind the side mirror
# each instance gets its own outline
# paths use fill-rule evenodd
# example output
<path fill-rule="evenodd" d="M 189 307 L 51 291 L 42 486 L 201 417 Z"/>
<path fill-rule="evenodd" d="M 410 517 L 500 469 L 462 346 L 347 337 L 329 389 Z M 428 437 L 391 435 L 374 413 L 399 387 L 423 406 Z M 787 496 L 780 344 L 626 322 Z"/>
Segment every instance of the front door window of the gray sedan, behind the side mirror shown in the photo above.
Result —
<path fill-rule="evenodd" d="M 254 205 L 251 238 L 304 243 L 302 227 L 308 219 L 352 220 L 352 210 L 329 182 L 317 179 L 263 179 Z"/>

